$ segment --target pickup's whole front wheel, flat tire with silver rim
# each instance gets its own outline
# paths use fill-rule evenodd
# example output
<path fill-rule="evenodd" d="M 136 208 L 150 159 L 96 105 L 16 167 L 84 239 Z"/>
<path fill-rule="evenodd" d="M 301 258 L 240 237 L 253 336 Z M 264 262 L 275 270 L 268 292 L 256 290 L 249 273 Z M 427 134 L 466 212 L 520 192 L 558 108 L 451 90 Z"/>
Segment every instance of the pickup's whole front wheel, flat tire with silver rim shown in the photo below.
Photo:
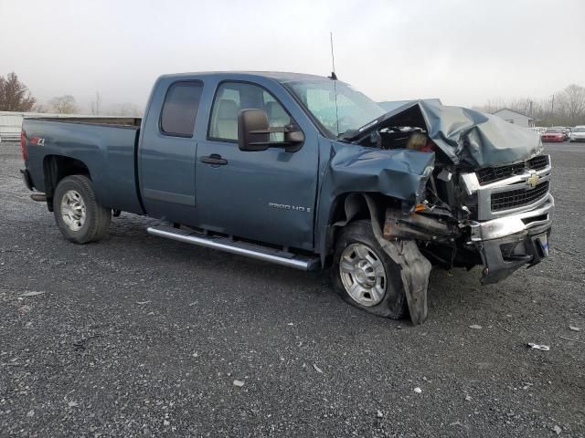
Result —
<path fill-rule="evenodd" d="M 334 257 L 335 291 L 346 302 L 381 317 L 406 316 L 400 266 L 378 244 L 370 221 L 347 224 L 335 244 Z"/>

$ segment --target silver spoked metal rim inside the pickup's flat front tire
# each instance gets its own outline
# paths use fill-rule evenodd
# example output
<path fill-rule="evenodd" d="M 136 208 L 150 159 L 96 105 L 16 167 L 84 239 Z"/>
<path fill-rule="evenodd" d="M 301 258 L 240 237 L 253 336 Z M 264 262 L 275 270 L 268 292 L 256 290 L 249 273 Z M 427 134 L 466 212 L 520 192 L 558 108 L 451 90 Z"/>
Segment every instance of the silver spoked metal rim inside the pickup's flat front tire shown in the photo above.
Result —
<path fill-rule="evenodd" d="M 344 249 L 339 276 L 347 294 L 362 306 L 376 306 L 386 294 L 386 270 L 367 245 L 352 244 Z"/>

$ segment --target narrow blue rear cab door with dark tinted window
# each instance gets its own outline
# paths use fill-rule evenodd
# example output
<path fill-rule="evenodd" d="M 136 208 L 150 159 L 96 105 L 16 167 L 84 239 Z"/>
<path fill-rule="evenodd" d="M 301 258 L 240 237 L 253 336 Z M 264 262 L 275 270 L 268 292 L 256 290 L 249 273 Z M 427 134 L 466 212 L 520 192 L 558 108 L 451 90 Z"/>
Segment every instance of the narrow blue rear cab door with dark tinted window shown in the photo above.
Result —
<path fill-rule="evenodd" d="M 203 83 L 161 79 L 141 135 L 140 191 L 146 213 L 195 224 L 195 121 Z"/>

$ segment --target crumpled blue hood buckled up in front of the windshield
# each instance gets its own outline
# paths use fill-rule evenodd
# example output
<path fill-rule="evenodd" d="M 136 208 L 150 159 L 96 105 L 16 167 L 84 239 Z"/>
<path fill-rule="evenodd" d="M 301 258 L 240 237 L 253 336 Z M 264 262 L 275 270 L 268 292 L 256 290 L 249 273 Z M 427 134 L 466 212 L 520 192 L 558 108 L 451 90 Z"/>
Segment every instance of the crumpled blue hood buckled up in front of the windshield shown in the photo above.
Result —
<path fill-rule="evenodd" d="M 410 102 L 359 130 L 347 132 L 343 140 L 362 141 L 373 130 L 390 126 L 427 130 L 431 140 L 453 164 L 472 170 L 525 160 L 542 151 L 537 132 L 491 114 L 423 100 Z"/>

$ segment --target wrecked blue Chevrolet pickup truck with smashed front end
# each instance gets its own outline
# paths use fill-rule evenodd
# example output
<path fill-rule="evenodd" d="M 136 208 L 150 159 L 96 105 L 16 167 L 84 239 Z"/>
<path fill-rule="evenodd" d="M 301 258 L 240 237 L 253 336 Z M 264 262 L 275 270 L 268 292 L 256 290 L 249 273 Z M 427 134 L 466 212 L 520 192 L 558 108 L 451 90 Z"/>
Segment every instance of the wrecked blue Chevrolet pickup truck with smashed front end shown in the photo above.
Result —
<path fill-rule="evenodd" d="M 122 211 L 151 235 L 330 268 L 350 304 L 427 318 L 431 266 L 495 283 L 548 255 L 551 164 L 537 134 L 413 101 L 386 112 L 337 80 L 158 78 L 142 119 L 26 119 L 24 181 L 76 244 Z"/>

